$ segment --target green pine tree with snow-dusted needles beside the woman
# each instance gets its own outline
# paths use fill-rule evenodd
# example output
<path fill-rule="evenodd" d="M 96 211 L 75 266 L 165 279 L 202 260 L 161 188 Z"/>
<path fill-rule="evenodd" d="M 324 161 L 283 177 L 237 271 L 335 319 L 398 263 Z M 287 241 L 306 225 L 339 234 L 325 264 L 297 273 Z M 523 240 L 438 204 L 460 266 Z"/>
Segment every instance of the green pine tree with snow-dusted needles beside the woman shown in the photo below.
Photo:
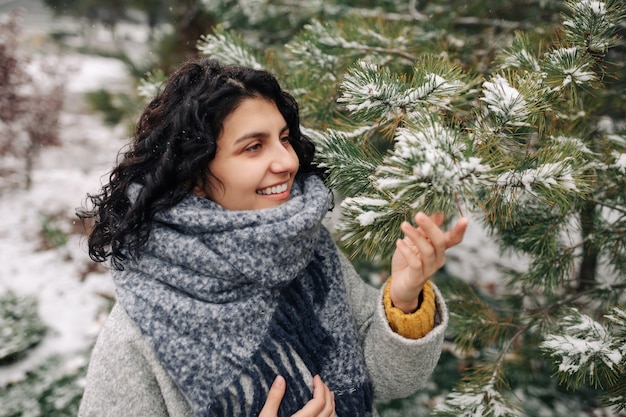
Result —
<path fill-rule="evenodd" d="M 454 3 L 403 14 L 406 3 L 388 2 L 375 16 L 319 13 L 284 46 L 255 48 L 227 26 L 198 44 L 277 73 L 299 100 L 352 256 L 384 268 L 399 224 L 422 210 L 471 215 L 528 259 L 495 296 L 438 282 L 466 365 L 434 415 L 532 415 L 522 399 L 545 374 L 626 409 L 626 136 L 605 123 L 624 119 L 623 94 L 608 86 L 623 73 L 626 8 L 541 4 L 530 20 L 540 29 L 460 18 Z M 493 4 L 505 7 L 530 13 Z"/>

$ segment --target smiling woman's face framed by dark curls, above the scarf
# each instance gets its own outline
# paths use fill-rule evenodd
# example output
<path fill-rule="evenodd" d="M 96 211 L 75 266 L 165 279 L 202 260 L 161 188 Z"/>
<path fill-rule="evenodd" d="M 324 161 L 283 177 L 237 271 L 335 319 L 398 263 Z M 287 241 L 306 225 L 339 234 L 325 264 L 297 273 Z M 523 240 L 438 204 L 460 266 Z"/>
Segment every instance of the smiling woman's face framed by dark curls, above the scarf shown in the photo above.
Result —
<path fill-rule="evenodd" d="M 276 104 L 248 98 L 224 119 L 208 183 L 195 193 L 229 210 L 258 210 L 287 200 L 298 156 Z"/>

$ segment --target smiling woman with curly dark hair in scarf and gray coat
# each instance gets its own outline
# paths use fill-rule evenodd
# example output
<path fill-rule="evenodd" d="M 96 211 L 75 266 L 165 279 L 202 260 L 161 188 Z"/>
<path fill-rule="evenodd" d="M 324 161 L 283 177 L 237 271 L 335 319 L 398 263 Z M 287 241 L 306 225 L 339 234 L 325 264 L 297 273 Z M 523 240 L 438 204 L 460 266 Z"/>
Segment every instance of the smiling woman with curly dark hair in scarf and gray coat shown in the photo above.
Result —
<path fill-rule="evenodd" d="M 467 221 L 404 223 L 375 289 L 322 225 L 313 156 L 267 72 L 198 59 L 168 79 L 79 213 L 117 301 L 80 416 L 373 416 L 423 385 L 448 320 L 428 279 Z"/>

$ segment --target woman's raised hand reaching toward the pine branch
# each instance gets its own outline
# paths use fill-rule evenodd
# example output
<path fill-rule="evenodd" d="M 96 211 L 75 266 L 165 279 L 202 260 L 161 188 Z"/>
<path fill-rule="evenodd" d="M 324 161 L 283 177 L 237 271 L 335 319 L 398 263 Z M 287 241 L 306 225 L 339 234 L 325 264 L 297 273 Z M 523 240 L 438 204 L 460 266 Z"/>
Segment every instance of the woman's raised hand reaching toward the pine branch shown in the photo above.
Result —
<path fill-rule="evenodd" d="M 443 214 L 428 217 L 424 213 L 415 215 L 417 227 L 409 222 L 400 226 L 403 239 L 396 242 L 396 250 L 391 260 L 391 287 L 389 295 L 394 307 L 405 313 L 418 307 L 418 297 L 424 284 L 445 263 L 446 249 L 459 244 L 467 229 L 467 218 L 459 219 L 450 231 L 440 229 Z"/>

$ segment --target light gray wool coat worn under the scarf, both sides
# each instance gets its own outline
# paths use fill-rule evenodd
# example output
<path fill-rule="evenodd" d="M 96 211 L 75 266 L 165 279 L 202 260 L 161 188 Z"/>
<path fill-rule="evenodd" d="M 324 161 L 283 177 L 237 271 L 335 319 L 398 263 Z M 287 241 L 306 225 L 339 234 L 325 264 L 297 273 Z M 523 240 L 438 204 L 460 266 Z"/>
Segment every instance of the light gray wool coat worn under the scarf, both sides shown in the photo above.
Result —
<path fill-rule="evenodd" d="M 389 327 L 382 290 L 364 283 L 345 256 L 339 258 L 376 400 L 411 395 L 426 383 L 441 354 L 448 311 L 439 290 L 435 288 L 434 329 L 421 339 L 406 339 Z M 78 416 L 193 416 L 176 383 L 120 305 L 113 307 L 96 341 Z"/>

